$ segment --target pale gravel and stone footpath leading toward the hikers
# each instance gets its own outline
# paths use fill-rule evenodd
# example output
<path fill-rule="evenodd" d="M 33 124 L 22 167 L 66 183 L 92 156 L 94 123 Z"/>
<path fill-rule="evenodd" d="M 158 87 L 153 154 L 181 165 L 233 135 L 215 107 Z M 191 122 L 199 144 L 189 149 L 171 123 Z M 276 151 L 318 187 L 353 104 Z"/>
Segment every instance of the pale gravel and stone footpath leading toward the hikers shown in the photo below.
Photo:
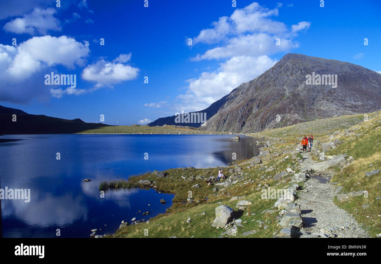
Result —
<path fill-rule="evenodd" d="M 311 159 L 309 152 L 302 155 L 304 162 L 317 163 Z M 332 175 L 331 171 L 315 172 L 303 190 L 298 191 L 296 203 L 301 206 L 303 218 L 301 232 L 319 234 L 321 237 L 369 237 L 354 217 L 333 203 L 336 193 L 335 186 L 330 184 Z"/>

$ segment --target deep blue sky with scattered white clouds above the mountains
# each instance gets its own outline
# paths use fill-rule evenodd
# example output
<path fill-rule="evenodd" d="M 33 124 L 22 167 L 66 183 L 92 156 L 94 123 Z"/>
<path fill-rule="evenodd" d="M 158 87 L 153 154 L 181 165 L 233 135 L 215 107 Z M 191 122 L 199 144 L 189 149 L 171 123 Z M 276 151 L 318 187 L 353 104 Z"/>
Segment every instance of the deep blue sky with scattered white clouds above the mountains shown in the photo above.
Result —
<path fill-rule="evenodd" d="M 147 124 L 208 107 L 287 53 L 381 73 L 380 11 L 378 0 L 0 0 L 0 105 Z M 76 87 L 45 85 L 52 71 Z"/>

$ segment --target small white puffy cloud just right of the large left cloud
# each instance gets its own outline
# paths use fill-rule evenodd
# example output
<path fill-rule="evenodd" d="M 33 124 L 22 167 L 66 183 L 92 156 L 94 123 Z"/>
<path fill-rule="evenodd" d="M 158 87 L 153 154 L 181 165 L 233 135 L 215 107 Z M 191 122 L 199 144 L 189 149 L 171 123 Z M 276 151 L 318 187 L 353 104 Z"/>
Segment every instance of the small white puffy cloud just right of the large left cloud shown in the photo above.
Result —
<path fill-rule="evenodd" d="M 114 84 L 133 80 L 138 76 L 140 70 L 130 65 L 122 64 L 122 62 L 129 61 L 130 58 L 131 53 L 121 54 L 113 62 L 105 61 L 104 59 L 98 60 L 83 70 L 82 79 L 95 81 L 95 87 L 102 87 L 104 85 L 113 87 Z"/>

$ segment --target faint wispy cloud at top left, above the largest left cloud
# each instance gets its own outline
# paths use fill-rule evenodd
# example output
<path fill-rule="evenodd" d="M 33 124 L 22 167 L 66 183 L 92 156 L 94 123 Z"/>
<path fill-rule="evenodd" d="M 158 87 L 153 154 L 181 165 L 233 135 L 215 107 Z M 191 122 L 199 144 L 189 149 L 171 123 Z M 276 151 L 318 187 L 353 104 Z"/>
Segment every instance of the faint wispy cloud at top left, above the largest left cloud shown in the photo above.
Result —
<path fill-rule="evenodd" d="M 31 13 L 24 14 L 22 18 L 15 18 L 4 25 L 5 31 L 16 34 L 45 35 L 48 31 L 61 31 L 58 19 L 54 18 L 54 8 L 35 8 Z"/>

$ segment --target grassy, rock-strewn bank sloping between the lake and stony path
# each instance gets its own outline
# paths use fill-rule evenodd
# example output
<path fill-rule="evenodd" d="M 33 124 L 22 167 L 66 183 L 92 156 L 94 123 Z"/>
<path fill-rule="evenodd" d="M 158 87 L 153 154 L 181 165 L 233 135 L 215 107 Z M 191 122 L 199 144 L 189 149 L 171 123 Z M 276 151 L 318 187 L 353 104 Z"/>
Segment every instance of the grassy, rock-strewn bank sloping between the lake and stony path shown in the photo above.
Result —
<path fill-rule="evenodd" d="M 159 190 L 174 193 L 173 206 L 168 208 L 165 214 L 150 219 L 149 223 L 123 227 L 109 237 L 219 237 L 225 230 L 211 226 L 215 219 L 215 208 L 225 204 L 238 210 L 235 205 L 239 200 L 247 200 L 252 204 L 239 216 L 239 219 L 242 219 L 243 227 L 238 227 L 235 237 L 273 237 L 281 229 L 276 219 L 279 210 L 276 209 L 271 214 L 261 213 L 270 209 L 276 201 L 261 199 L 261 190 L 264 184 L 272 188 L 285 188 L 290 185 L 290 177 L 281 180 L 273 178 L 275 174 L 284 171 L 287 167 L 299 172 L 295 148 L 305 134 L 314 134 L 316 148 L 319 148 L 319 143 L 329 142 L 336 138 L 344 141 L 338 148 L 330 150 L 326 154 L 347 153 L 348 157 L 354 157 L 354 162 L 342 171 L 337 169 L 338 174 L 332 181 L 343 186 L 343 191 L 368 190 L 369 197 L 354 197 L 349 202 L 338 203 L 338 206 L 354 214 L 357 221 L 363 224 L 372 235 L 380 233 L 379 219 L 381 217 L 378 215 L 381 200 L 376 200 L 381 195 L 380 177 L 374 175 L 365 178 L 364 172 L 381 168 L 379 156 L 381 128 L 377 129 L 381 126 L 379 119 L 381 115 L 371 113 L 368 116 L 368 122 L 363 122 L 362 114 L 341 116 L 250 134 L 257 138 L 271 138 L 272 146 L 263 148 L 263 150 L 269 150 L 270 154 L 262 157 L 262 163 L 259 164 L 253 164 L 253 159 L 237 162 L 237 165 L 240 166 L 239 172 L 229 172 L 229 169 L 234 169 L 235 165 L 224 167 L 224 175 L 234 182 L 237 181 L 226 188 L 210 186 L 205 182 L 208 177 L 217 175 L 218 167 L 175 168 L 166 170 L 165 172 L 168 173 L 166 177 L 158 178 L 156 174 L 145 174 L 131 179 L 132 184 L 136 184 L 142 179 L 149 180 L 154 182 Z M 360 128 L 356 129 L 357 126 Z M 336 130 L 340 130 L 340 132 L 333 133 Z M 352 130 L 354 132 L 351 132 Z M 373 166 L 369 167 L 370 164 Z M 358 184 L 359 182 L 360 184 Z M 195 184 L 200 187 L 194 187 Z M 303 182 L 298 184 L 303 185 Z M 214 187 L 217 187 L 218 190 L 213 190 Z M 233 196 L 240 198 L 232 201 Z M 191 202 L 187 201 L 189 197 L 191 197 Z M 154 202 L 159 203 L 159 201 Z M 362 208 L 364 203 L 370 206 Z M 191 218 L 189 223 L 187 223 L 188 218 Z M 267 226 L 266 229 L 265 226 Z M 243 236 L 244 232 L 251 230 L 255 230 L 255 233 Z M 147 232 L 148 235 L 145 236 Z"/>

